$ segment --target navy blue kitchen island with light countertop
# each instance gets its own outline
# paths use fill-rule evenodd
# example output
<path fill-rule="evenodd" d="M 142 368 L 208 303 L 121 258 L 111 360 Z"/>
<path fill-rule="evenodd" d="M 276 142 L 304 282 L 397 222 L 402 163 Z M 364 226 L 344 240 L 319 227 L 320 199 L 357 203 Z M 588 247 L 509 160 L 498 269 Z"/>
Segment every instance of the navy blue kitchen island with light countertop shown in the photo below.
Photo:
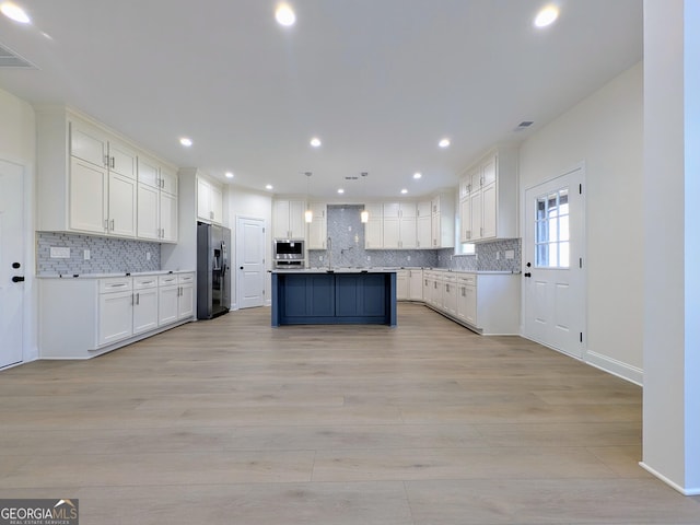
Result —
<path fill-rule="evenodd" d="M 335 324 L 396 326 L 396 271 L 272 271 L 272 326 Z"/>

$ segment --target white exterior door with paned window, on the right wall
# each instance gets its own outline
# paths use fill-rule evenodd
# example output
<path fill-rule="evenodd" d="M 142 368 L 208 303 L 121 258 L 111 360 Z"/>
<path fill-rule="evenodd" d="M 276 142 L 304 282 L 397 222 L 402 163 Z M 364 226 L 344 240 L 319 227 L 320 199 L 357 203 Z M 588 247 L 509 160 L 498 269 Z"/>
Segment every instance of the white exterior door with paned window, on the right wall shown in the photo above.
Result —
<path fill-rule="evenodd" d="M 526 190 L 523 240 L 523 335 L 579 359 L 586 320 L 583 178 L 578 167 Z"/>

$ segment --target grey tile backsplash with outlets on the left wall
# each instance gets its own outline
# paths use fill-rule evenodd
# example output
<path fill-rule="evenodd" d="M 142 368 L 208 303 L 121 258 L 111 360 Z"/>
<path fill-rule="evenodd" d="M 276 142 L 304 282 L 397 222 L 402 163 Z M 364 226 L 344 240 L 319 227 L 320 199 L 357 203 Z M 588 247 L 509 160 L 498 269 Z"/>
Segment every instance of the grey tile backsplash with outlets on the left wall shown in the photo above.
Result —
<path fill-rule="evenodd" d="M 50 248 L 69 248 L 70 257 L 51 258 Z M 85 250 L 90 259 L 85 260 Z M 94 237 L 61 232 L 36 232 L 36 273 L 81 275 L 158 271 L 161 245 L 124 238 Z"/>

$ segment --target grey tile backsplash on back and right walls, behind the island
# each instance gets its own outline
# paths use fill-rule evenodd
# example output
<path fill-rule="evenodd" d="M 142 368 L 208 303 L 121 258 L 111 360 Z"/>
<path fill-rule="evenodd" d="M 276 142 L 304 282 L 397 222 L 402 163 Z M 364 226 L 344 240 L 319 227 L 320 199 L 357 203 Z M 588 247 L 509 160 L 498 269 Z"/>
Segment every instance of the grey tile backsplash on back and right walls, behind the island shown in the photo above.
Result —
<path fill-rule="evenodd" d="M 443 249 L 364 249 L 364 225 L 359 205 L 329 205 L 328 236 L 334 267 L 430 267 L 465 271 L 521 271 L 521 240 L 508 238 L 476 245 L 476 255 L 454 255 L 454 248 Z M 513 252 L 506 259 L 505 253 Z M 369 259 L 368 259 L 369 257 Z M 308 250 L 308 266 L 328 265 L 328 252 Z"/>

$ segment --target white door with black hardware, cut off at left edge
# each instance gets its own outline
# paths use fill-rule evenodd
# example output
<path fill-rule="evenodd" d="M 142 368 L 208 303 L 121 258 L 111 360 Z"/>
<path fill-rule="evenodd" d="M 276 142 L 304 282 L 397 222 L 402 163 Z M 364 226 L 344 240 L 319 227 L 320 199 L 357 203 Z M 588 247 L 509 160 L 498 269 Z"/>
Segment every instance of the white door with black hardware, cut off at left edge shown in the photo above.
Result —
<path fill-rule="evenodd" d="M 22 361 L 24 171 L 0 160 L 0 368 Z"/>

